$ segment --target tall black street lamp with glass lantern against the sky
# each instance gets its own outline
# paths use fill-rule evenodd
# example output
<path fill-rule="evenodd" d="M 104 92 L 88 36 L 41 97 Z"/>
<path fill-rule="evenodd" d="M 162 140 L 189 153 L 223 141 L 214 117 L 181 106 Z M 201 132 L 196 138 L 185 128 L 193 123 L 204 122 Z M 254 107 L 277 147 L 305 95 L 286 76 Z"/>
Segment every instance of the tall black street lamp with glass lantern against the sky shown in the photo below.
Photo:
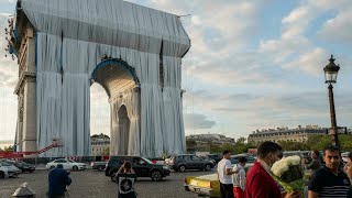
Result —
<path fill-rule="evenodd" d="M 333 102 L 333 92 L 332 92 L 332 84 L 337 82 L 337 78 L 338 78 L 338 73 L 340 69 L 339 65 L 336 65 L 334 58 L 331 55 L 330 59 L 329 59 L 329 64 L 323 68 L 323 73 L 326 76 L 326 84 L 329 84 L 328 89 L 329 89 L 329 102 L 330 102 L 330 121 L 331 121 L 331 131 L 330 131 L 330 135 L 332 139 L 332 145 L 337 145 L 340 146 L 339 143 L 339 133 L 338 133 L 338 127 L 337 127 L 337 117 L 334 113 L 334 102 Z"/>

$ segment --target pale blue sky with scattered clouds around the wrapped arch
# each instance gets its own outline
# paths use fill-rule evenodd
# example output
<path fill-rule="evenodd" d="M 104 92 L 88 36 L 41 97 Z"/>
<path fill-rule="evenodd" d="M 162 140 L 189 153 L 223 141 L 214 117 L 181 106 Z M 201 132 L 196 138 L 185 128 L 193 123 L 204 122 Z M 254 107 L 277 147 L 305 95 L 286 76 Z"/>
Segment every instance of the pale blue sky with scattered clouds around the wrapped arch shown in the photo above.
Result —
<path fill-rule="evenodd" d="M 323 67 L 340 64 L 339 127 L 352 127 L 352 1 L 130 0 L 174 13 L 191 40 L 183 59 L 186 135 L 248 136 L 256 129 L 330 127 Z M 0 141 L 13 140 L 16 62 L 4 57 L 14 0 L 0 0 Z M 108 97 L 91 87 L 91 133 L 110 133 Z"/>

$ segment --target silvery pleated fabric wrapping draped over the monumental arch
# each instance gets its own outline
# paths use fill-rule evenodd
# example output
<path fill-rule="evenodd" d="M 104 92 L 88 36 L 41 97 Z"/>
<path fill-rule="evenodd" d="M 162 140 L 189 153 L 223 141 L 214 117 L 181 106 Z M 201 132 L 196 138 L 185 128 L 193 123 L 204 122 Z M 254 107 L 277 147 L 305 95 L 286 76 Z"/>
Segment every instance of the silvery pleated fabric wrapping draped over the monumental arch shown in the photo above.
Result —
<path fill-rule="evenodd" d="M 53 138 L 64 144 L 41 156 L 90 154 L 89 87 L 103 55 L 133 67 L 141 88 L 109 96 L 111 154 L 186 151 L 180 67 L 190 41 L 176 15 L 121 0 L 21 0 L 21 7 L 36 30 L 37 147 Z"/>

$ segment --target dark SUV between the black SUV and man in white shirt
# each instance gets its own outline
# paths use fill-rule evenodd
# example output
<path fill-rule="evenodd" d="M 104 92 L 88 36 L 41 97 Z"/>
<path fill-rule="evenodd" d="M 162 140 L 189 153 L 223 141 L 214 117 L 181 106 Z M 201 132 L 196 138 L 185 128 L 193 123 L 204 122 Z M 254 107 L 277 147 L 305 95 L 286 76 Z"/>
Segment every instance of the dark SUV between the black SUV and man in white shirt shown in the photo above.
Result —
<path fill-rule="evenodd" d="M 185 172 L 186 169 L 205 169 L 209 172 L 215 167 L 210 160 L 204 160 L 195 154 L 174 155 L 165 160 L 165 165 L 177 172 Z"/>

